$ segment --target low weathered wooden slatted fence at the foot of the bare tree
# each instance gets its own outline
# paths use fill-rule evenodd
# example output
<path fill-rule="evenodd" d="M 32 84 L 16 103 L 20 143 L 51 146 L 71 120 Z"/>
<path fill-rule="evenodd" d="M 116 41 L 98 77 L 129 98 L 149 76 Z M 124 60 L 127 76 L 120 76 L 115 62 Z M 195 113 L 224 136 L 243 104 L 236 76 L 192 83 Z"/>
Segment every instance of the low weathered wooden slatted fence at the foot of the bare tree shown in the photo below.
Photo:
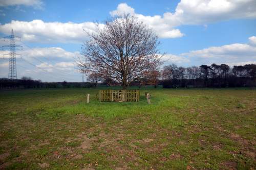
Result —
<path fill-rule="evenodd" d="M 99 90 L 100 102 L 139 102 L 139 90 Z"/>

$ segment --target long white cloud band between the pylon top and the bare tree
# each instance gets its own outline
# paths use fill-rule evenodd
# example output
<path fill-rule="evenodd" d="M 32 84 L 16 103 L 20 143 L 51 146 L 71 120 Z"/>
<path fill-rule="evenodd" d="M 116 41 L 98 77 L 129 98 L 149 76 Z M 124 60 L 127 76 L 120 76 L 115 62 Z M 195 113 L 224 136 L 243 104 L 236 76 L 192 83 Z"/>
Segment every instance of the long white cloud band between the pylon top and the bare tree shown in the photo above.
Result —
<path fill-rule="evenodd" d="M 100 24 L 100 27 L 103 27 Z M 77 42 L 82 43 L 87 33 L 97 30 L 93 22 L 44 22 L 36 19 L 32 21 L 12 20 L 10 23 L 0 25 L 0 32 L 9 35 L 10 30 L 21 36 L 24 41 L 32 42 Z M 84 30 L 84 31 L 83 31 Z M 86 32 L 85 32 L 86 31 Z"/>

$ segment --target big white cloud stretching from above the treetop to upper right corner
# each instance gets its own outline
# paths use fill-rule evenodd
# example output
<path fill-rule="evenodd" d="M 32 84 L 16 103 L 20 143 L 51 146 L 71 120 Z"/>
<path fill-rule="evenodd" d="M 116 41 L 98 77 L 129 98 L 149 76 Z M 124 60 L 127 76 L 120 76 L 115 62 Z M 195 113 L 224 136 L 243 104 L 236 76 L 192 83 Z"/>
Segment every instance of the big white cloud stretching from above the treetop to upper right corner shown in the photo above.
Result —
<path fill-rule="evenodd" d="M 112 16 L 131 13 L 153 28 L 160 38 L 184 36 L 178 29 L 180 25 L 204 25 L 229 19 L 256 18 L 255 0 L 181 0 L 174 13 L 165 12 L 162 16 L 144 16 L 135 13 L 127 4 L 119 4 L 111 11 Z"/>

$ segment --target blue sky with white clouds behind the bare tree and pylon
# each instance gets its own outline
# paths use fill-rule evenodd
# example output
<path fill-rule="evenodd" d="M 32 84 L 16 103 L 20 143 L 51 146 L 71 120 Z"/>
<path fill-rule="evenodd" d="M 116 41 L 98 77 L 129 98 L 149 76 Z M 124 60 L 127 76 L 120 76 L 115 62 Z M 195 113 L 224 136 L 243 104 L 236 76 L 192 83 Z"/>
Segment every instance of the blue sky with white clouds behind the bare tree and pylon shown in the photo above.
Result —
<path fill-rule="evenodd" d="M 130 13 L 158 35 L 164 65 L 256 64 L 255 0 L 42 1 L 0 0 L 0 36 L 13 29 L 17 77 L 81 82 L 75 59 L 95 22 Z M 1 38 L 0 45 L 10 43 Z M 0 51 L 8 78 L 9 48 Z"/>

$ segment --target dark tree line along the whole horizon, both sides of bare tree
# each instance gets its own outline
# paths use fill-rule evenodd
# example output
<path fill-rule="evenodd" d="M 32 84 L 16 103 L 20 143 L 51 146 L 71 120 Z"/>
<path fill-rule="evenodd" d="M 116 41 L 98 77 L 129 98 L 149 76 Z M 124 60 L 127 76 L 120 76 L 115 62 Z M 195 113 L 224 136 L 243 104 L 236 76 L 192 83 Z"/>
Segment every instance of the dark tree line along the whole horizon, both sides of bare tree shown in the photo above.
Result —
<path fill-rule="evenodd" d="M 8 88 L 95 88 L 103 86 L 121 86 L 122 84 L 110 77 L 101 78 L 91 74 L 88 82 L 42 82 L 30 77 L 12 80 L 0 79 L 0 89 Z M 256 87 L 256 64 L 233 66 L 211 64 L 182 67 L 176 64 L 165 65 L 163 69 L 152 69 L 144 76 L 135 79 L 130 86 L 143 87 L 153 85 L 163 88 L 197 88 L 197 87 Z"/>

